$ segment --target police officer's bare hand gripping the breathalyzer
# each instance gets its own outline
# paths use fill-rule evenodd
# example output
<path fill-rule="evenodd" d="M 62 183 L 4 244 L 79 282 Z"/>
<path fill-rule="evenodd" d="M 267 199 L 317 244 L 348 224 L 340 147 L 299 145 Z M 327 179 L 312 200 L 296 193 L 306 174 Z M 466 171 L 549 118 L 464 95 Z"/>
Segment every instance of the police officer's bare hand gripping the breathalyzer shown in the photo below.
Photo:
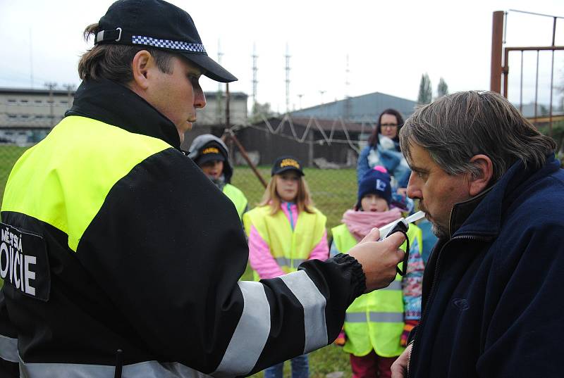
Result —
<path fill-rule="evenodd" d="M 403 260 L 404 252 L 400 245 L 405 236 L 396 232 L 382 241 L 378 229 L 372 229 L 359 244 L 348 251 L 362 265 L 366 276 L 366 292 L 382 289 L 396 278 L 396 266 Z"/>

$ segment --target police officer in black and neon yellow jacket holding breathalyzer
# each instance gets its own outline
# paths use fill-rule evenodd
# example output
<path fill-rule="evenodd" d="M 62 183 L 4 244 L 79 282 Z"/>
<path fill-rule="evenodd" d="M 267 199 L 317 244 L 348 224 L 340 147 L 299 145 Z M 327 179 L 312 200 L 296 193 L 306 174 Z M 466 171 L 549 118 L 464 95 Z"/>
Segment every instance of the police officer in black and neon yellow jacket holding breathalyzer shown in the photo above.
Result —
<path fill-rule="evenodd" d="M 403 236 L 238 282 L 238 214 L 180 151 L 200 76 L 235 77 L 165 1 L 117 1 L 86 32 L 73 107 L 6 184 L 0 373 L 233 377 L 329 344 L 353 299 L 395 277 Z"/>

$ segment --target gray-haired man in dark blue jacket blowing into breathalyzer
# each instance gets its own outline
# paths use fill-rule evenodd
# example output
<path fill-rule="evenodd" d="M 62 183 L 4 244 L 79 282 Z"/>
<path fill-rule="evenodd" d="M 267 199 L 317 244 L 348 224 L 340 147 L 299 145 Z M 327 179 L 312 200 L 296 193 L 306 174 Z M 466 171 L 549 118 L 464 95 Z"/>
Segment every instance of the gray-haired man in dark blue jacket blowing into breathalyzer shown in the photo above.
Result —
<path fill-rule="evenodd" d="M 564 171 L 552 139 L 500 95 L 462 92 L 417 109 L 400 143 L 407 194 L 439 242 L 393 377 L 562 376 Z"/>

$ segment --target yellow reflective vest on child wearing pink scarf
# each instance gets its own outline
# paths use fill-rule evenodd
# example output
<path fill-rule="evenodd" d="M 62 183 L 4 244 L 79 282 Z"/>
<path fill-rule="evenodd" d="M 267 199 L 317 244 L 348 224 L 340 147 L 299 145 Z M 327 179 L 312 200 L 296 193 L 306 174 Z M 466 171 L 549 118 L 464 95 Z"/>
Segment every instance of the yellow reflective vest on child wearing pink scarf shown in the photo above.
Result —
<path fill-rule="evenodd" d="M 357 244 L 346 225 L 334 227 L 331 231 L 338 251 L 347 253 Z M 410 244 L 417 239 L 421 249 L 422 233 L 419 227 L 410 225 L 407 237 Z M 400 248 L 405 251 L 405 246 L 404 243 Z M 396 275 L 388 287 L 364 294 L 349 306 L 345 315 L 347 341 L 343 351 L 360 357 L 374 349 L 382 357 L 396 357 L 404 350 L 400 346 L 403 325 L 402 277 Z"/>

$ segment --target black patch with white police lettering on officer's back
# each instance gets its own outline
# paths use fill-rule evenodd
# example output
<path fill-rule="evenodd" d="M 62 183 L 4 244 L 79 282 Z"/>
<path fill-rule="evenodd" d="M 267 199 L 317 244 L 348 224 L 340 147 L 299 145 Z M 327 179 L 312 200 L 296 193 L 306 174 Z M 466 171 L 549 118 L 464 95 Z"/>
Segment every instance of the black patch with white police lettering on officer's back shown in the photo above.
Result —
<path fill-rule="evenodd" d="M 51 275 L 45 239 L 0 222 L 0 277 L 16 291 L 48 301 Z"/>

